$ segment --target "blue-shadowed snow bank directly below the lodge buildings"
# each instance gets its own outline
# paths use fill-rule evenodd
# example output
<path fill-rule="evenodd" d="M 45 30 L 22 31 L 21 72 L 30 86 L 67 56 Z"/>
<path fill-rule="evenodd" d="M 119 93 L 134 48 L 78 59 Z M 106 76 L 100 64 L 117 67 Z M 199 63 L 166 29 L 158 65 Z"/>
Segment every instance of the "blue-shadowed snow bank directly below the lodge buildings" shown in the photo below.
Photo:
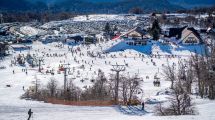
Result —
<path fill-rule="evenodd" d="M 151 41 L 146 46 L 130 46 L 125 41 L 120 41 L 118 44 L 106 49 L 106 52 L 123 51 L 127 49 L 136 50 L 140 53 L 150 55 L 178 55 L 178 56 L 190 56 L 191 54 L 205 54 L 204 45 L 165 45 L 160 42 Z"/>

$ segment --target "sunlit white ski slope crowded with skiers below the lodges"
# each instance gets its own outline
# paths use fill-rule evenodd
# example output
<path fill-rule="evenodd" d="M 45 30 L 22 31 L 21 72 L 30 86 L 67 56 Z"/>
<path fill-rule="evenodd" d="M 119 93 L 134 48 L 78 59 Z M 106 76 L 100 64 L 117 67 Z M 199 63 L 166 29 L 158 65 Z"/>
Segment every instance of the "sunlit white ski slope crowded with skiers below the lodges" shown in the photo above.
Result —
<path fill-rule="evenodd" d="M 120 41 L 119 41 L 120 42 Z M 38 72 L 38 68 L 31 68 L 29 65 L 26 66 L 28 69 L 28 74 L 26 75 L 22 72 L 21 69 L 25 67 L 13 66 L 10 67 L 10 61 L 14 56 L 20 54 L 20 52 L 13 53 L 12 56 L 6 57 L 4 61 L 1 61 L 0 65 L 4 65 L 6 69 L 0 70 L 0 120 L 25 120 L 27 119 L 27 111 L 29 108 L 32 108 L 34 112 L 33 120 L 214 120 L 215 119 L 215 102 L 209 100 L 195 99 L 196 107 L 199 112 L 195 116 L 155 116 L 153 113 L 148 113 L 142 116 L 136 115 L 125 115 L 119 111 L 117 106 L 110 107 L 78 107 L 78 106 L 64 106 L 64 105 L 53 105 L 49 103 L 43 103 L 38 101 L 30 100 L 21 100 L 19 97 L 24 93 L 22 86 L 27 89 L 29 86 L 32 86 L 32 81 L 35 81 L 35 76 L 40 80 L 41 86 L 44 86 L 51 77 L 54 77 L 58 80 L 59 85 L 63 85 L 63 74 L 57 74 L 58 65 L 61 63 L 70 63 L 70 67 L 75 67 L 75 72 L 73 75 L 69 75 L 68 78 L 73 78 L 74 83 L 83 88 L 83 86 L 91 85 L 90 80 L 86 80 L 83 83 L 80 82 L 83 78 L 95 77 L 94 71 L 102 69 L 105 71 L 106 75 L 109 76 L 109 73 L 112 73 L 110 69 L 112 64 L 124 64 L 124 60 L 128 63 L 126 71 L 121 74 L 130 74 L 134 75 L 139 73 L 139 76 L 143 78 L 144 82 L 142 89 L 144 90 L 143 96 L 139 96 L 141 100 L 146 100 L 147 98 L 156 98 L 158 100 L 165 100 L 165 95 L 157 96 L 157 92 L 165 90 L 170 86 L 169 81 L 164 81 L 161 79 L 161 87 L 154 87 L 153 77 L 157 72 L 162 71 L 162 64 L 167 64 L 167 58 L 153 58 L 153 61 L 156 63 L 154 66 L 151 63 L 151 58 L 147 56 L 144 52 L 133 49 L 132 47 L 127 47 L 125 51 L 115 51 L 107 54 L 107 57 L 104 58 L 91 58 L 86 56 L 87 51 L 102 52 L 107 50 L 112 45 L 118 45 L 118 42 L 109 41 L 106 43 L 101 43 L 101 45 L 90 45 L 90 48 L 86 46 L 74 46 L 73 49 L 78 47 L 81 50 L 81 53 L 84 56 L 79 56 L 79 53 L 76 56 L 76 59 L 80 61 L 80 64 L 74 62 L 74 57 L 72 53 L 68 51 L 68 46 L 65 45 L 63 48 L 56 47 L 58 43 L 51 43 L 44 45 L 40 42 L 34 42 L 32 49 L 30 51 L 22 51 L 21 54 L 36 54 L 42 56 L 42 53 L 53 54 L 57 52 L 62 54 L 62 57 L 44 57 L 44 68 L 43 73 Z M 166 51 L 162 51 L 161 45 L 155 44 L 156 46 L 152 47 L 151 51 L 154 53 L 163 53 L 167 54 Z M 101 47 L 103 46 L 103 47 Z M 71 47 L 71 46 L 70 46 Z M 39 50 L 39 52 L 38 52 Z M 115 49 L 116 50 L 116 49 Z M 170 49 L 171 51 L 173 49 Z M 170 54 L 170 53 L 168 53 Z M 171 54 L 175 54 L 171 52 Z M 183 54 L 183 55 L 182 55 Z M 181 59 L 188 59 L 190 52 L 184 49 L 177 51 L 177 55 Z M 112 58 L 111 55 L 115 55 L 116 58 Z M 127 56 L 126 58 L 124 56 Z M 139 57 L 139 55 L 144 55 L 145 57 Z M 105 56 L 105 55 L 104 55 Z M 178 57 L 169 58 L 170 64 L 173 62 L 177 63 Z M 89 64 L 84 64 L 82 60 L 86 61 Z M 91 61 L 94 63 L 91 63 Z M 105 64 L 105 61 L 110 62 L 111 64 Z M 85 70 L 80 69 L 80 65 L 85 65 Z M 92 70 L 90 71 L 90 65 L 92 65 Z M 54 69 L 55 75 L 45 74 L 45 70 Z M 15 71 L 13 74 L 12 71 Z M 77 70 L 81 72 L 82 77 L 77 77 Z M 146 79 L 146 76 L 149 76 L 149 79 Z M 161 76 L 162 77 L 162 76 Z M 10 88 L 6 85 L 11 85 Z M 146 104 L 146 110 L 153 112 L 153 106 Z"/>

